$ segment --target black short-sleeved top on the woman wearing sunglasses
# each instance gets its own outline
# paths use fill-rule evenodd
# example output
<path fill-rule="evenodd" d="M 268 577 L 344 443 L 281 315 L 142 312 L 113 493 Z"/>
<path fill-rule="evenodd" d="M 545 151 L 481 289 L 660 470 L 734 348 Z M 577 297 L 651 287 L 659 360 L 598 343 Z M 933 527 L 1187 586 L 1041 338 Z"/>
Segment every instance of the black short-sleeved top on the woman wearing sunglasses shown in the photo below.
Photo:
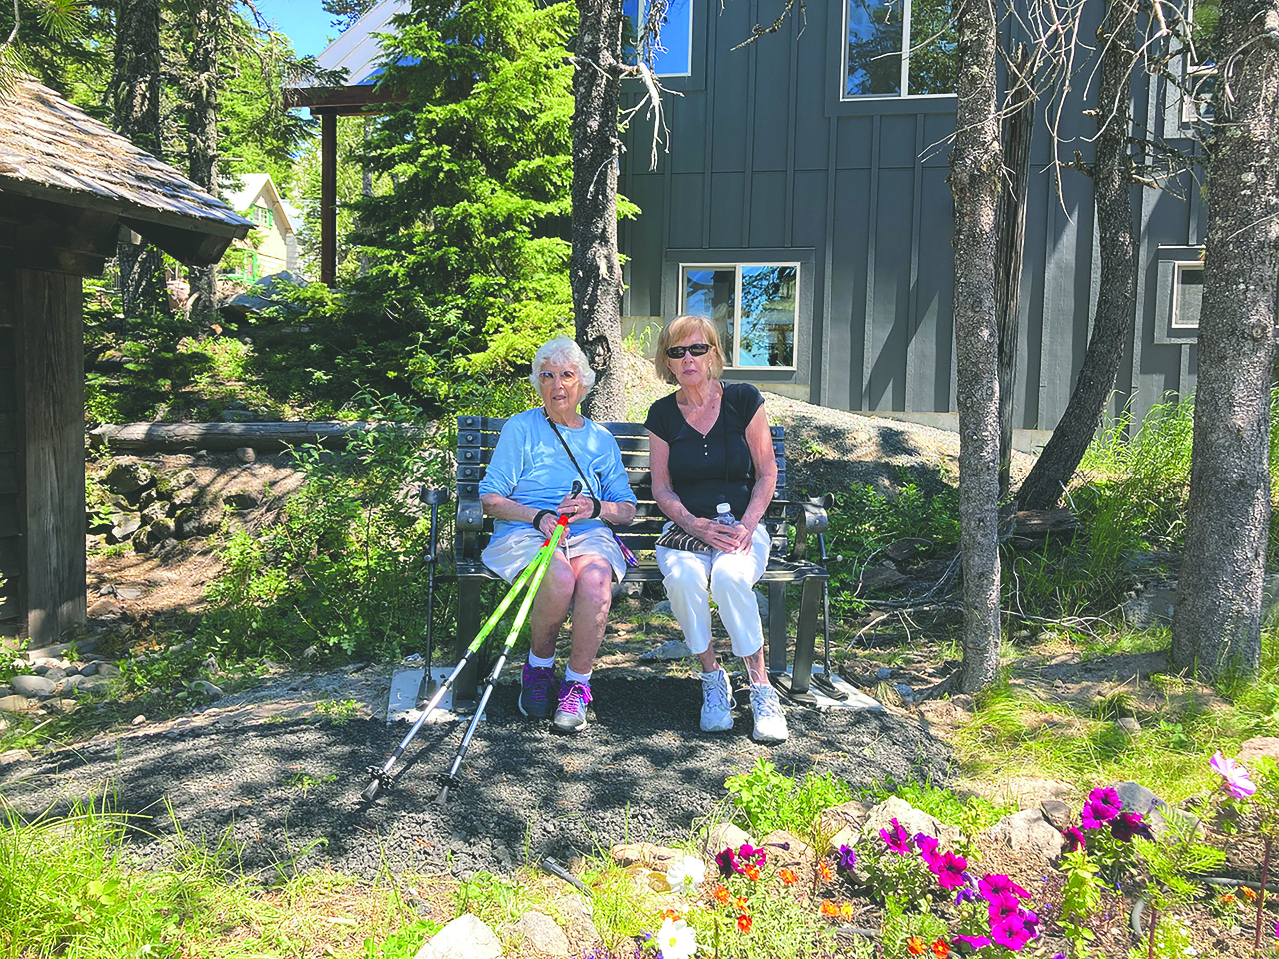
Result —
<path fill-rule="evenodd" d="M 715 506 L 728 503 L 738 519 L 755 490 L 755 463 L 746 442 L 746 427 L 764 396 L 747 382 L 724 384 L 720 414 L 702 436 L 679 412 L 675 394 L 648 408 L 645 426 L 670 446 L 670 485 L 694 517 L 714 519 Z"/>

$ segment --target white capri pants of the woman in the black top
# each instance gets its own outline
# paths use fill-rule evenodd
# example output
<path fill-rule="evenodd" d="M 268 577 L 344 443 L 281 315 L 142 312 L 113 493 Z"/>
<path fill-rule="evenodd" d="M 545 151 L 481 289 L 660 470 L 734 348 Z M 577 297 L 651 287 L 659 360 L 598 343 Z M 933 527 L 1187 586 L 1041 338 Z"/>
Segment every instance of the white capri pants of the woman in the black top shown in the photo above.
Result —
<path fill-rule="evenodd" d="M 711 647 L 712 596 L 733 641 L 733 653 L 752 656 L 764 647 L 764 624 L 760 621 L 755 584 L 769 565 L 769 531 L 764 523 L 755 527 L 749 552 L 689 552 L 657 547 L 657 568 L 666 578 L 670 609 L 693 655 Z"/>

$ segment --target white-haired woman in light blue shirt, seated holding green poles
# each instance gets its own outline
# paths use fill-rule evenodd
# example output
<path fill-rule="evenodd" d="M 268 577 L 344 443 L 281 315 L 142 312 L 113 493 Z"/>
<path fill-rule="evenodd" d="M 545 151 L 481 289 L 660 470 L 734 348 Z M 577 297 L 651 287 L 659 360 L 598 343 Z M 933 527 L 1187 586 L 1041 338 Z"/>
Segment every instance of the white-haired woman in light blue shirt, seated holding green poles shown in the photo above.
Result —
<path fill-rule="evenodd" d="M 604 639 L 613 581 L 625 574 L 609 524 L 628 526 L 636 497 L 613 433 L 577 412 L 595 385 L 582 349 L 567 336 L 549 340 L 533 355 L 528 378 L 542 405 L 506 421 L 480 482 L 480 504 L 494 518 L 481 559 L 514 582 L 551 534 L 556 517 L 568 517 L 533 598 L 519 711 L 535 719 L 554 712 L 553 729 L 577 733 L 586 726 L 591 667 Z M 569 495 L 574 481 L 583 487 L 577 496 Z M 555 638 L 570 606 L 572 647 L 556 690 Z"/>

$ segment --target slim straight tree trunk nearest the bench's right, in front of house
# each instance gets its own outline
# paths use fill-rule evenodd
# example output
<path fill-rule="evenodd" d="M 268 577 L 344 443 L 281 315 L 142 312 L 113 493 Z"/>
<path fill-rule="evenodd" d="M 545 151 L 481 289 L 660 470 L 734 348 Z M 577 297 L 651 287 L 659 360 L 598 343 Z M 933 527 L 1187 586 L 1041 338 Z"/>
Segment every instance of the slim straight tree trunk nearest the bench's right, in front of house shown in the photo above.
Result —
<path fill-rule="evenodd" d="M 955 400 L 959 407 L 959 549 L 964 692 L 999 676 L 999 330 L 995 247 L 1000 182 L 993 0 L 959 0 L 955 139 Z"/>

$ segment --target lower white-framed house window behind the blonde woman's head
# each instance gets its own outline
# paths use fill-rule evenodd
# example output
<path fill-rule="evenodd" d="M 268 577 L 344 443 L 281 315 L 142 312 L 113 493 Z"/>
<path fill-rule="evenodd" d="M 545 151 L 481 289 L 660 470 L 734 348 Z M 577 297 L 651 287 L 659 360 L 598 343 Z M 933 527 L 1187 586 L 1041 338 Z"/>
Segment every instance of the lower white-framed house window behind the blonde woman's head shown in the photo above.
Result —
<path fill-rule="evenodd" d="M 680 267 L 680 312 L 715 321 L 725 366 L 793 368 L 798 304 L 798 263 Z"/>

